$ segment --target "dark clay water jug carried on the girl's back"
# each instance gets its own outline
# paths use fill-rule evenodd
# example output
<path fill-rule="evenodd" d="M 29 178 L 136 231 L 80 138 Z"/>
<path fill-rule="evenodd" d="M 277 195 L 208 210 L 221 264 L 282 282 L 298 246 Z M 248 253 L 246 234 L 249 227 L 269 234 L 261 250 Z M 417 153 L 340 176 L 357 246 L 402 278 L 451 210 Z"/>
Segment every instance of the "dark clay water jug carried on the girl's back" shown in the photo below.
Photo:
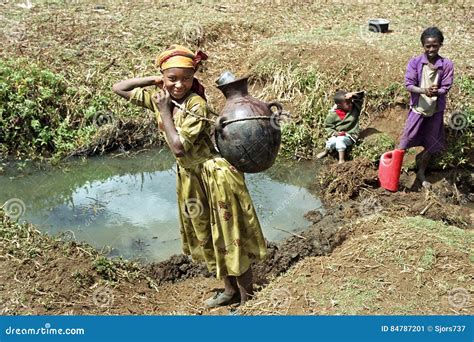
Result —
<path fill-rule="evenodd" d="M 248 77 L 235 79 L 225 72 L 217 84 L 226 98 L 216 120 L 215 139 L 220 154 L 242 172 L 268 169 L 280 149 L 281 104 L 250 96 Z"/>

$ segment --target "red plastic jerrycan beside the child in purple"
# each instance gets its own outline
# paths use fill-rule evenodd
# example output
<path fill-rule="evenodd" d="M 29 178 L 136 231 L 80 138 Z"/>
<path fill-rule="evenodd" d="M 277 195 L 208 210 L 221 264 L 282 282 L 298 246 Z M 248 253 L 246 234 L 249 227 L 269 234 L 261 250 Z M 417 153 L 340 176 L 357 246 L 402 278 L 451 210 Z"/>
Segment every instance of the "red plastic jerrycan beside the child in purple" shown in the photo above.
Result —
<path fill-rule="evenodd" d="M 390 191 L 398 190 L 404 154 L 405 150 L 393 150 L 385 152 L 380 157 L 379 181 L 382 188 Z"/>

